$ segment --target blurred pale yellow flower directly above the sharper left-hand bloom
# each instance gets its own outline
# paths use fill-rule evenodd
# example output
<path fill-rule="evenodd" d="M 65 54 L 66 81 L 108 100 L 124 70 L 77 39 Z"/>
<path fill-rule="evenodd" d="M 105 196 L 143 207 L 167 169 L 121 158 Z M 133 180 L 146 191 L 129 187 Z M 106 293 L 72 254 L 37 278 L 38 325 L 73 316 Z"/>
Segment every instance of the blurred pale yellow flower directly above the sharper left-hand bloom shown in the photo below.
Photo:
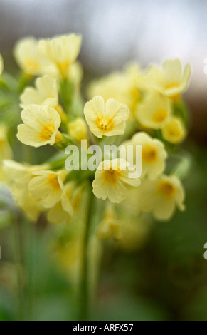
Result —
<path fill-rule="evenodd" d="M 20 97 L 21 108 L 28 105 L 48 105 L 56 108 L 58 105 L 57 81 L 50 76 L 36 79 L 36 88 L 27 87 Z"/>

